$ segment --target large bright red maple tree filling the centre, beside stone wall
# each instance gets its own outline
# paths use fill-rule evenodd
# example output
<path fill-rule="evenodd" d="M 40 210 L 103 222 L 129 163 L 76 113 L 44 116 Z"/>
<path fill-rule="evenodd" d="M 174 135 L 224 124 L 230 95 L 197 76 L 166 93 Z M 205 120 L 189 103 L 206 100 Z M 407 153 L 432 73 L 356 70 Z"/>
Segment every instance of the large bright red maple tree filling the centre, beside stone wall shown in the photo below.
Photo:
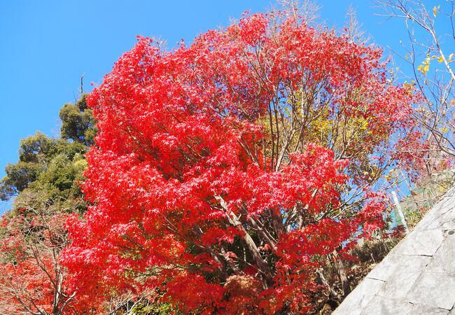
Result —
<path fill-rule="evenodd" d="M 277 12 L 171 52 L 139 38 L 88 98 L 73 287 L 156 290 L 184 313 L 309 311 L 325 258 L 384 225 L 374 188 L 414 96 L 381 53 Z"/>

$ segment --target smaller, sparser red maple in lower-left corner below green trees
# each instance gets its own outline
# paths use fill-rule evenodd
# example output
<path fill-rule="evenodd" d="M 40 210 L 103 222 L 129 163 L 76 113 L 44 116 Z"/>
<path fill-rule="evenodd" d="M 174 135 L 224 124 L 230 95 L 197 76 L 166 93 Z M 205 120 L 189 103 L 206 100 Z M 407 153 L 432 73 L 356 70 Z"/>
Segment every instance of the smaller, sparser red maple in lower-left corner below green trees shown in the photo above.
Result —
<path fill-rule="evenodd" d="M 67 272 L 59 263 L 66 244 L 66 215 L 18 214 L 1 218 L 0 313 L 87 314 L 87 303 L 69 288 Z"/>

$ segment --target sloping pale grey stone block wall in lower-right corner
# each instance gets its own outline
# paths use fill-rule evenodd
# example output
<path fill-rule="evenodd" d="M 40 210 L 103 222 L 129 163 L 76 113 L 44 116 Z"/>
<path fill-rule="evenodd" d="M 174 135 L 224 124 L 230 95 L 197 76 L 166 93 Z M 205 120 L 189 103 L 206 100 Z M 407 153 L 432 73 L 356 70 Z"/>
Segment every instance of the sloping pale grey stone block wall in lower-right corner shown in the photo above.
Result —
<path fill-rule="evenodd" d="M 349 294 L 336 315 L 455 315 L 455 188 Z"/>

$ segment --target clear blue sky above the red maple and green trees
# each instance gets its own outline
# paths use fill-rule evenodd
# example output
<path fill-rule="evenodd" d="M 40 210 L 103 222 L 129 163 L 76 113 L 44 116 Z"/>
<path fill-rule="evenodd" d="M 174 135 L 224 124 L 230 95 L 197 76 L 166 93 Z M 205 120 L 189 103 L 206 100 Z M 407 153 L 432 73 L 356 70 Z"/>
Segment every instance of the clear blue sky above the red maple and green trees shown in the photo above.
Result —
<path fill-rule="evenodd" d="M 341 27 L 352 4 L 373 42 L 398 47 L 401 21 L 384 22 L 368 0 L 319 0 L 321 20 Z M 0 177 L 18 160 L 20 139 L 37 130 L 57 136 L 59 108 L 84 87 L 101 83 L 136 35 L 155 36 L 172 48 L 183 38 L 228 25 L 245 10 L 265 11 L 269 0 L 251 1 L 7 1 L 0 0 Z M 7 204 L 0 204 L 0 213 Z"/>

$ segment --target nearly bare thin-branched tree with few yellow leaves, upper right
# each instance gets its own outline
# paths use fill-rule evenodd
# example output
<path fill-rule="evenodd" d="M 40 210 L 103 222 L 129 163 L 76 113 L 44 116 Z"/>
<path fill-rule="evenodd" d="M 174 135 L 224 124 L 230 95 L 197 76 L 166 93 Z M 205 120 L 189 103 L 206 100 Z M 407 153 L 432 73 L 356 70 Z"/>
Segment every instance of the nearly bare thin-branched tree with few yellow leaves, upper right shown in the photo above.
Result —
<path fill-rule="evenodd" d="M 408 83 L 423 97 L 414 115 L 426 131 L 430 151 L 441 153 L 433 158 L 454 158 L 454 1 L 438 1 L 433 7 L 420 0 L 376 3 L 381 15 L 401 19 L 407 29 L 405 54 L 398 55 L 411 70 Z"/>

